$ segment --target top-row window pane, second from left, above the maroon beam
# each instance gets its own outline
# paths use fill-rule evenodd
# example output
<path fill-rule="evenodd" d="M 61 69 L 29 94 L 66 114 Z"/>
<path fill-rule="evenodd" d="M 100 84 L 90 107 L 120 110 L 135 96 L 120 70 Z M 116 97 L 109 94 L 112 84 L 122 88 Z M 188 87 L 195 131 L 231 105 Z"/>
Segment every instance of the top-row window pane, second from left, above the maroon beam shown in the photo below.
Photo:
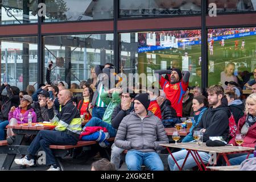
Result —
<path fill-rule="evenodd" d="M 114 18 L 113 0 L 46 0 L 45 22 Z"/>

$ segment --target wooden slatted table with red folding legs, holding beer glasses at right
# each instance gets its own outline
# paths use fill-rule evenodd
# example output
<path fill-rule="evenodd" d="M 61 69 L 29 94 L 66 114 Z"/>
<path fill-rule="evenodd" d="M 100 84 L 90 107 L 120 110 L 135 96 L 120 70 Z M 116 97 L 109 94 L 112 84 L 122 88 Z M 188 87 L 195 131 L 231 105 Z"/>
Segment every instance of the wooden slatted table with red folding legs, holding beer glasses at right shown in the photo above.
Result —
<path fill-rule="evenodd" d="M 250 147 L 241 147 L 241 148 L 237 147 L 237 146 L 208 147 L 208 146 L 206 146 L 205 143 L 203 143 L 199 146 L 199 144 L 197 144 L 196 142 L 186 142 L 186 143 L 177 143 L 177 144 L 169 143 L 169 144 L 160 144 L 160 145 L 167 148 L 168 152 L 172 156 L 172 159 L 174 159 L 177 167 L 180 170 L 182 170 L 189 154 L 192 155 L 193 159 L 195 160 L 197 166 L 199 167 L 199 169 L 201 171 L 203 171 L 203 168 L 201 167 L 201 164 L 203 165 L 204 169 L 207 170 L 205 164 L 203 163 L 203 160 L 201 159 L 201 157 L 200 157 L 200 155 L 198 154 L 197 151 L 212 152 L 212 153 L 218 154 L 217 158 L 216 158 L 216 161 L 214 161 L 215 163 L 218 161 L 220 156 L 223 156 L 223 158 L 225 159 L 226 164 L 228 166 L 230 166 L 230 163 L 229 163 L 229 159 L 228 159 L 227 155 L 247 153 L 248 154 L 247 158 L 248 158 L 249 154 L 254 151 L 254 148 L 250 148 Z M 174 158 L 174 156 L 172 155 L 172 152 L 170 151 L 169 148 L 180 148 L 180 149 L 184 148 L 185 150 L 188 151 L 187 156 L 185 157 L 185 160 L 184 160 L 183 165 L 181 167 L 179 166 L 179 164 L 177 164 L 177 161 Z M 209 163 L 207 164 L 207 166 L 209 166 Z"/>

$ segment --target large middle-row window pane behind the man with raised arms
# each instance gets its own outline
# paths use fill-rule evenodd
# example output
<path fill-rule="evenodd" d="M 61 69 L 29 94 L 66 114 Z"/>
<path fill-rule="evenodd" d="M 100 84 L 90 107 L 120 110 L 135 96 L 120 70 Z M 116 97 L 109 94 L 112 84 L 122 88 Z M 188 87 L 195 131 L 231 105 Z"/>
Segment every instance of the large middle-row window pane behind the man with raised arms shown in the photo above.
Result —
<path fill-rule="evenodd" d="M 123 33 L 120 56 L 122 73 L 145 74 L 147 83 L 140 81 L 141 86 L 158 84 L 154 70 L 170 68 L 189 71 L 189 85 L 201 86 L 200 30 Z"/>

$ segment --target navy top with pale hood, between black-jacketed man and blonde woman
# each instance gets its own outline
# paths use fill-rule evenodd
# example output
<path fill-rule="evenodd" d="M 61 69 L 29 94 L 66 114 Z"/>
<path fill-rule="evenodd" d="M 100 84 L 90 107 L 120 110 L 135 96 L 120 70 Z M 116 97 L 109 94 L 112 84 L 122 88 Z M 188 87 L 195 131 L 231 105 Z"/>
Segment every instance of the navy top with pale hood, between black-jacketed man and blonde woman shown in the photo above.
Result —
<path fill-rule="evenodd" d="M 243 105 L 241 100 L 234 100 L 229 103 L 229 107 L 234 116 L 236 124 L 238 124 L 239 119 L 244 115 L 243 110 L 245 109 L 245 105 Z"/>

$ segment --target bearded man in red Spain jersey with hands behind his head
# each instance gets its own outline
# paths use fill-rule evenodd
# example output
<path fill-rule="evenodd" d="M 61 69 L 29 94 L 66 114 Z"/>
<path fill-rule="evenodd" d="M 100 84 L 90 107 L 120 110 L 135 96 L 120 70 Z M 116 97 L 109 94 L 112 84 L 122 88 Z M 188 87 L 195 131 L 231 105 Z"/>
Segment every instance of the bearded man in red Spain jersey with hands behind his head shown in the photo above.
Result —
<path fill-rule="evenodd" d="M 171 106 L 176 110 L 177 117 L 182 117 L 182 101 L 188 88 L 190 73 L 184 71 L 184 76 L 182 76 L 180 69 L 177 68 L 156 70 L 155 73 L 159 74 L 159 84 L 164 90 L 164 93 L 166 93 L 166 98 L 171 101 Z M 161 76 L 163 74 L 169 74 L 170 81 Z"/>

